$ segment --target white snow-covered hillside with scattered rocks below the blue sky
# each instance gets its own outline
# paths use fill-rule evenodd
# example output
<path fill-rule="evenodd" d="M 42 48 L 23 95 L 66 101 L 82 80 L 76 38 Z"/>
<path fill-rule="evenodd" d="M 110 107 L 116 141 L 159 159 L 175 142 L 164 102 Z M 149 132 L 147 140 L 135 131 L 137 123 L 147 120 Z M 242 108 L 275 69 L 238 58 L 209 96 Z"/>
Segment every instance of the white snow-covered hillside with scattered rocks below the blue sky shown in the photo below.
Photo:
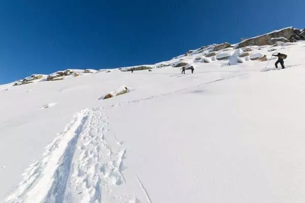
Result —
<path fill-rule="evenodd" d="M 305 41 L 270 36 L 0 85 L 0 200 L 302 202 Z"/>

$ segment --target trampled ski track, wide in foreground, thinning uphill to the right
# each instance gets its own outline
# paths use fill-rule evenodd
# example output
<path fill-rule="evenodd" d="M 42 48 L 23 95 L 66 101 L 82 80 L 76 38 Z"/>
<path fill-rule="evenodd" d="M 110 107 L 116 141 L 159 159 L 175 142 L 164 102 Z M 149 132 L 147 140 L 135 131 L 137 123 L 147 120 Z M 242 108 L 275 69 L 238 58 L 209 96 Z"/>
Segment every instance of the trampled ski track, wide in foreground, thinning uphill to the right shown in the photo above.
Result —
<path fill-rule="evenodd" d="M 31 164 L 5 202 L 103 202 L 103 197 L 125 183 L 123 160 L 127 147 L 108 133 L 106 111 L 117 106 L 139 103 L 202 85 L 246 75 L 241 73 L 155 96 L 110 106 L 90 108 L 74 115 L 65 130 L 46 147 L 40 161 Z M 147 190 L 136 176 L 147 201 Z M 113 196 L 113 202 L 137 203 L 134 195 Z"/>

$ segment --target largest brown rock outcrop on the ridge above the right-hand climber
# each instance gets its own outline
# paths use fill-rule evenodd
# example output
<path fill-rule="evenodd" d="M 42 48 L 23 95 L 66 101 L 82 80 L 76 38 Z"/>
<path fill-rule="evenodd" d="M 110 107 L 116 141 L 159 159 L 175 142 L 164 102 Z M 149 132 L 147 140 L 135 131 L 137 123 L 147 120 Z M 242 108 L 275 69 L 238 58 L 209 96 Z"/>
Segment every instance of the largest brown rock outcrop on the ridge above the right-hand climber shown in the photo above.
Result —
<path fill-rule="evenodd" d="M 295 36 L 301 37 L 301 32 L 299 35 L 296 34 L 297 31 L 295 32 L 295 29 L 292 27 L 277 30 L 270 32 L 266 35 L 262 35 L 259 37 L 251 38 L 245 41 L 240 42 L 235 48 L 241 48 L 241 47 L 246 47 L 246 46 L 263 46 L 263 45 L 273 45 L 277 41 L 290 41 Z M 285 40 L 286 39 L 286 40 Z"/>

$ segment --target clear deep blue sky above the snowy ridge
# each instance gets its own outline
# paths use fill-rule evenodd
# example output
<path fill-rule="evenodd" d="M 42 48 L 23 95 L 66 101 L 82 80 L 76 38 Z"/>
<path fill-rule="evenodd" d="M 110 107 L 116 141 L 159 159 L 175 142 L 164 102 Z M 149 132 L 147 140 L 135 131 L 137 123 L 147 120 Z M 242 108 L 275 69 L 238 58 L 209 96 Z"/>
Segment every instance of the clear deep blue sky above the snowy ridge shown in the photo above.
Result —
<path fill-rule="evenodd" d="M 149 64 L 305 27 L 303 0 L 0 1 L 0 84 L 68 68 Z"/>

